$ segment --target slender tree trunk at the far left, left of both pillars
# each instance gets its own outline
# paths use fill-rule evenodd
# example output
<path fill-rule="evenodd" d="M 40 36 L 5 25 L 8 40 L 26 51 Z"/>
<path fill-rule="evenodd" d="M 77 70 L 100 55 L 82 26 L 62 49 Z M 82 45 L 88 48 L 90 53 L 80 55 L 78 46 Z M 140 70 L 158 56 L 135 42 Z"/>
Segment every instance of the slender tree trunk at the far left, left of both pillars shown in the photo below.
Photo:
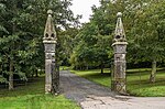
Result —
<path fill-rule="evenodd" d="M 9 90 L 13 90 L 13 62 L 10 61 Z"/>

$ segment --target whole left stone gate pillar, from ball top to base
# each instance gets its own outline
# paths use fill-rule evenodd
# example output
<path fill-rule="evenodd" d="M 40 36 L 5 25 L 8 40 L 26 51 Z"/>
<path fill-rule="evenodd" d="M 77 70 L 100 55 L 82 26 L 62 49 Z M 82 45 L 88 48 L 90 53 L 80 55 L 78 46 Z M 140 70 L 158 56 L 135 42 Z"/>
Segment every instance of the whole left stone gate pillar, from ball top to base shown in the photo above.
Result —
<path fill-rule="evenodd" d="M 53 11 L 47 11 L 47 21 L 44 31 L 43 43 L 45 46 L 45 94 L 57 92 L 59 76 L 55 70 L 56 32 L 53 23 Z"/>

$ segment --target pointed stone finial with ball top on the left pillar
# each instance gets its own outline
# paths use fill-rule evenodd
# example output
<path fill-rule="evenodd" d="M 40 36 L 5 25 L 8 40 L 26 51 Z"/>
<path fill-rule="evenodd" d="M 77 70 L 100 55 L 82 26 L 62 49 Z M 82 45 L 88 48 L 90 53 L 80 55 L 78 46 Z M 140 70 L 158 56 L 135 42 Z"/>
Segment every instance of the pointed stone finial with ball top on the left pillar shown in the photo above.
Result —
<path fill-rule="evenodd" d="M 44 31 L 44 42 L 47 42 L 47 41 L 56 41 L 56 31 L 55 31 L 55 28 L 54 28 L 54 23 L 53 23 L 53 18 L 52 18 L 52 14 L 53 14 L 53 11 L 52 10 L 48 10 L 47 11 L 47 21 L 46 21 L 46 25 L 45 25 L 45 31 Z"/>

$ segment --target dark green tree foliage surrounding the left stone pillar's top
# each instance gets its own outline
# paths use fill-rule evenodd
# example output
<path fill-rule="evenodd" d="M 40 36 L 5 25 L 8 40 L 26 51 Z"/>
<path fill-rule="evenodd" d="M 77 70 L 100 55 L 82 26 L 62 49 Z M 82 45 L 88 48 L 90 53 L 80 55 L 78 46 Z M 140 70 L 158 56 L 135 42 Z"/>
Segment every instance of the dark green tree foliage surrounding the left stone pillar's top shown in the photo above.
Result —
<path fill-rule="evenodd" d="M 48 9 L 54 11 L 58 37 L 63 30 L 78 26 L 79 17 L 74 18 L 69 6 L 67 0 L 0 1 L 0 81 L 9 83 L 9 89 L 13 79 L 26 80 L 44 68 L 42 39 Z"/>

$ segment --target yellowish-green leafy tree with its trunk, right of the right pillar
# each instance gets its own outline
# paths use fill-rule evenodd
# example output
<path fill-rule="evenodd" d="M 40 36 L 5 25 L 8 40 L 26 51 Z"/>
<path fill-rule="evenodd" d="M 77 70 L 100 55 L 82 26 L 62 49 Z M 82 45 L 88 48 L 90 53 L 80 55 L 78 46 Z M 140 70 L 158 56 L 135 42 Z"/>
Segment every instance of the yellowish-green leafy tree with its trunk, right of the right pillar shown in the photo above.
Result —
<path fill-rule="evenodd" d="M 144 61 L 152 62 L 150 81 L 155 81 L 156 63 L 164 59 L 164 11 L 163 0 L 147 2 L 142 10 L 136 11 L 135 24 L 132 32 L 139 46 L 139 55 Z"/>

